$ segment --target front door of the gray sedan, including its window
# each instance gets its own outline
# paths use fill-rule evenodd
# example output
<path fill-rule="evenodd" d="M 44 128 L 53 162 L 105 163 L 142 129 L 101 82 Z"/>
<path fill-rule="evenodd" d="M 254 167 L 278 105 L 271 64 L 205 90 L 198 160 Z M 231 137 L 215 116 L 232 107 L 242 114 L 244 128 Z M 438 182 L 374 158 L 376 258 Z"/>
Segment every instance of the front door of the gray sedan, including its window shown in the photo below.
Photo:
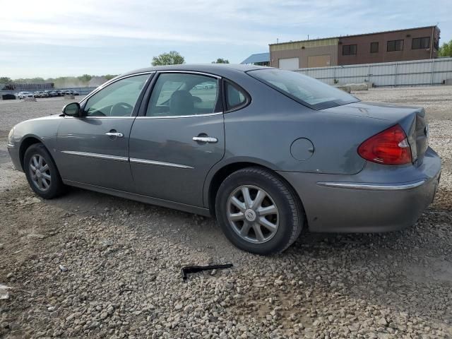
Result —
<path fill-rule="evenodd" d="M 82 102 L 81 117 L 64 117 L 57 141 L 64 180 L 133 191 L 129 135 L 149 77 L 147 73 L 120 78 Z"/>

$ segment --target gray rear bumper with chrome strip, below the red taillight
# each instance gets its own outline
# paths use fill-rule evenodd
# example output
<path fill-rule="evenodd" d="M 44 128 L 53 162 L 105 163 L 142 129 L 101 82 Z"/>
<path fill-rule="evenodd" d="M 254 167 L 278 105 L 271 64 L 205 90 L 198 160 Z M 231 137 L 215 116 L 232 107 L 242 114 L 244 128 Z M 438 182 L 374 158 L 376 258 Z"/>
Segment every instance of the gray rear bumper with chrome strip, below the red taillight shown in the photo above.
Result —
<path fill-rule="evenodd" d="M 355 175 L 279 172 L 302 199 L 313 232 L 386 232 L 413 225 L 432 203 L 441 159 L 429 148 L 420 167 L 368 163 Z"/>

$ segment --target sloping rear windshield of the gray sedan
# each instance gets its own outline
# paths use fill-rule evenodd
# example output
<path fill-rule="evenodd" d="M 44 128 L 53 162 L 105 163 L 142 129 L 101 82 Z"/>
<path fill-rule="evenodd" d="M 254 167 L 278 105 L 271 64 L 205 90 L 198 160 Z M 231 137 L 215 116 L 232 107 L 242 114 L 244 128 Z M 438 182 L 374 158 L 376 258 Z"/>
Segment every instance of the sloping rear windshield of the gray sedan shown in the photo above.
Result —
<path fill-rule="evenodd" d="M 258 69 L 247 73 L 278 92 L 313 109 L 325 109 L 359 101 L 343 90 L 338 90 L 338 88 L 294 71 Z"/>

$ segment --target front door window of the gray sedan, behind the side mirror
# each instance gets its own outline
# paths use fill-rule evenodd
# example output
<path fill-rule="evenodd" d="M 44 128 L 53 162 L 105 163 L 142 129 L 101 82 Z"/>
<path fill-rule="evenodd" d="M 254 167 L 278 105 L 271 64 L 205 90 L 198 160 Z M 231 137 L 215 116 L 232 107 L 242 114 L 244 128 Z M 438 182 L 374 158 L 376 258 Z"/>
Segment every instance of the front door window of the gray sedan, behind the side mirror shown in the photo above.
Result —
<path fill-rule="evenodd" d="M 143 90 L 149 74 L 130 76 L 107 85 L 88 99 L 87 117 L 130 117 L 136 100 Z"/>

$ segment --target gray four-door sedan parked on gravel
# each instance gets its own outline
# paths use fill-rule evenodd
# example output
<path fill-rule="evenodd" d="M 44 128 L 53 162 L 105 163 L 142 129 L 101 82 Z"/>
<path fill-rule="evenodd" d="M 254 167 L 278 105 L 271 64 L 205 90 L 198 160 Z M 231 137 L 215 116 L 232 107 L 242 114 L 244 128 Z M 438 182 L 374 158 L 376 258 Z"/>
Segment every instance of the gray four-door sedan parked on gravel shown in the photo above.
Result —
<path fill-rule="evenodd" d="M 33 191 L 66 185 L 212 215 L 246 251 L 314 232 L 413 225 L 441 160 L 424 109 L 360 102 L 299 73 L 161 66 L 125 73 L 9 133 Z"/>

